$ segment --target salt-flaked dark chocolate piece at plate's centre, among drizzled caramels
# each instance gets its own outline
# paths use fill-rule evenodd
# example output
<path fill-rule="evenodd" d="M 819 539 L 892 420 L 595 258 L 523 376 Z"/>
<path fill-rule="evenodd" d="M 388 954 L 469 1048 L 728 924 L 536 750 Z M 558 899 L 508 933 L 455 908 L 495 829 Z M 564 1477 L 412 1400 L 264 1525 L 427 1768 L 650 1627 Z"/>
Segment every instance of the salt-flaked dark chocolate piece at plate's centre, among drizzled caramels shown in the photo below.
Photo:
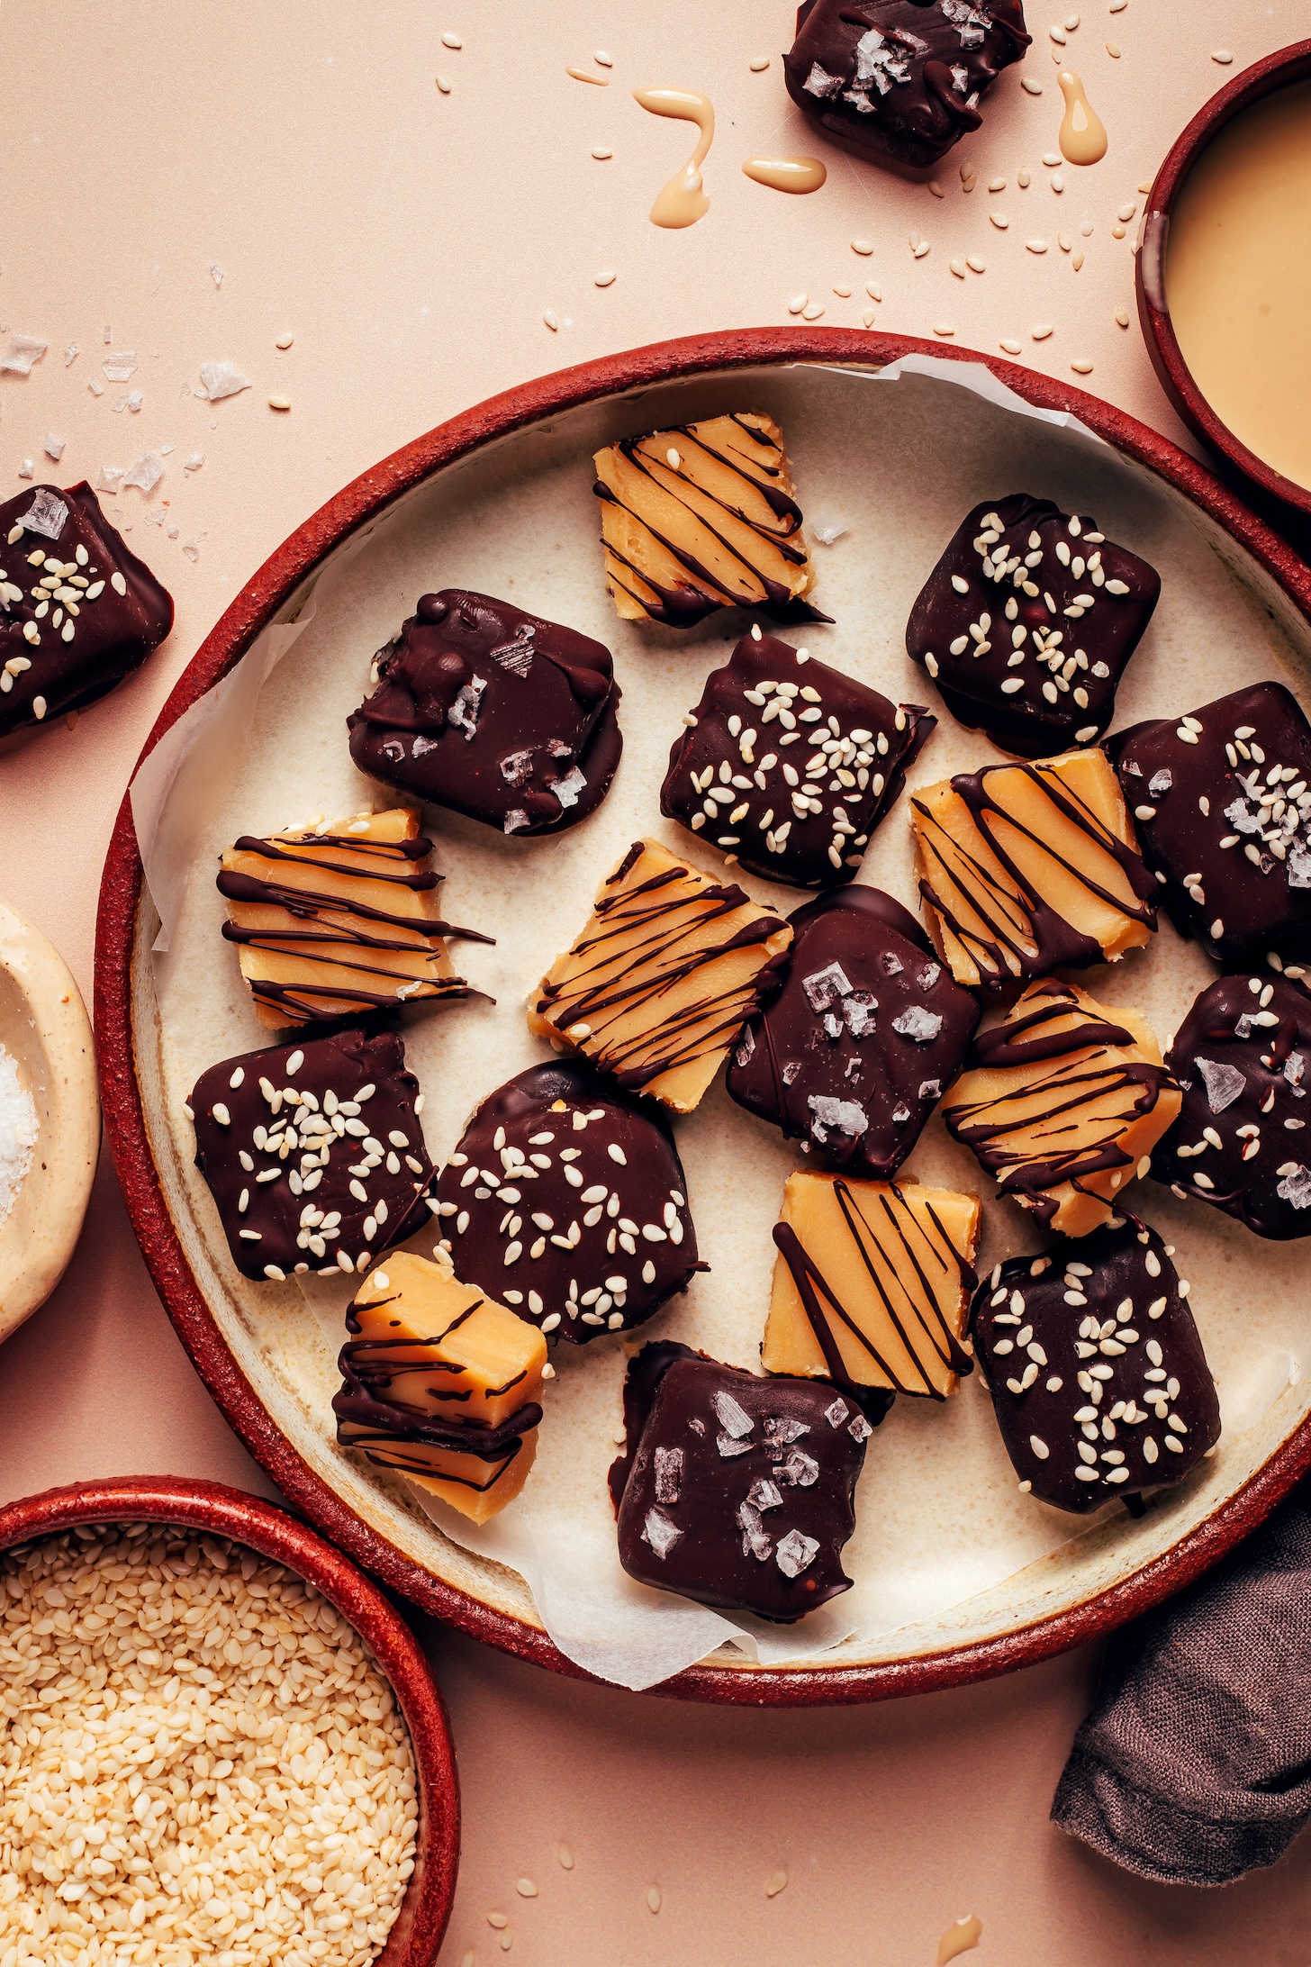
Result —
<path fill-rule="evenodd" d="M 820 1161 L 886 1182 L 961 1070 L 979 1003 L 877 887 L 839 887 L 788 921 L 788 974 L 733 1052 L 729 1094 Z"/>

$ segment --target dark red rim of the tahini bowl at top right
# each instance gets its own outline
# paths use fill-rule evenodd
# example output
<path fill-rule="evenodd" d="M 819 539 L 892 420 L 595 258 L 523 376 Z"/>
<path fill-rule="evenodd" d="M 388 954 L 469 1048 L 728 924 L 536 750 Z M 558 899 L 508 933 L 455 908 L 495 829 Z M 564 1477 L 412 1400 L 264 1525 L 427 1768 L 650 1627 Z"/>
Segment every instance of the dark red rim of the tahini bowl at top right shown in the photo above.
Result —
<path fill-rule="evenodd" d="M 1285 478 L 1283 472 L 1266 464 L 1264 458 L 1258 458 L 1254 450 L 1248 450 L 1242 439 L 1211 407 L 1179 348 L 1179 338 L 1169 319 L 1166 279 L 1171 214 L 1203 151 L 1244 110 L 1250 110 L 1256 102 L 1264 102 L 1266 96 L 1276 94 L 1280 89 L 1289 89 L 1293 83 L 1309 79 L 1311 41 L 1297 41 L 1291 47 L 1276 49 L 1274 55 L 1266 55 L 1250 69 L 1244 69 L 1242 75 L 1234 75 L 1232 83 L 1226 83 L 1225 89 L 1217 90 L 1197 110 L 1197 116 L 1193 116 L 1187 130 L 1177 138 L 1156 173 L 1156 183 L 1146 203 L 1136 269 L 1138 321 L 1142 323 L 1148 354 L 1166 395 L 1187 427 L 1219 458 L 1240 472 L 1252 486 L 1260 488 L 1264 498 L 1258 504 L 1262 504 L 1264 511 L 1270 511 L 1276 525 L 1285 525 L 1291 515 L 1297 515 L 1291 531 L 1303 551 L 1311 543 L 1311 488 L 1295 484 L 1295 480 Z M 1274 504 L 1268 506 L 1266 502 Z M 1291 513 L 1287 507 L 1291 507 Z"/>

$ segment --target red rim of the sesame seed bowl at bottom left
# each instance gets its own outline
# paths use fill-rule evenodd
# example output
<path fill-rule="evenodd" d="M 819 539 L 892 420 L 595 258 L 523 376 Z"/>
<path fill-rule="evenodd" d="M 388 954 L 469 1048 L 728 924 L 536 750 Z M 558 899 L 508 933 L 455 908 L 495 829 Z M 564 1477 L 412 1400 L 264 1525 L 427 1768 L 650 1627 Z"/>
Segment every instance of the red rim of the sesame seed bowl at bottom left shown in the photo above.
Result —
<path fill-rule="evenodd" d="M 177 1475 L 118 1475 L 6 1503 L 0 1550 L 57 1536 L 79 1522 L 177 1522 L 206 1536 L 230 1536 L 305 1578 L 360 1633 L 397 1698 L 419 1776 L 415 1871 L 375 1967 L 432 1967 L 456 1896 L 460 1784 L 442 1696 L 401 1613 L 350 1558 L 295 1517 L 224 1483 Z"/>

